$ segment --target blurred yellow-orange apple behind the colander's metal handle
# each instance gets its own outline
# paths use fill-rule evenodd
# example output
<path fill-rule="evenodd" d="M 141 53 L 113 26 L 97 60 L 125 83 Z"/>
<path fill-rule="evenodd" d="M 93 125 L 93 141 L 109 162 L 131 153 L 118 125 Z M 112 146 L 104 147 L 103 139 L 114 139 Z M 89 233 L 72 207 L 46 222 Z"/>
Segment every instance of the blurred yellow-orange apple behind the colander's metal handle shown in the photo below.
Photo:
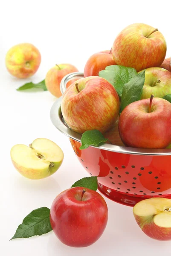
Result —
<path fill-rule="evenodd" d="M 52 93 L 53 96 L 59 98 L 62 96 L 60 90 L 60 83 L 64 76 L 72 72 L 77 72 L 78 69 L 71 64 L 59 64 L 52 67 L 46 74 L 45 84 L 47 90 Z M 70 85 L 70 83 L 69 83 Z M 68 85 L 68 86 L 69 86 Z"/>

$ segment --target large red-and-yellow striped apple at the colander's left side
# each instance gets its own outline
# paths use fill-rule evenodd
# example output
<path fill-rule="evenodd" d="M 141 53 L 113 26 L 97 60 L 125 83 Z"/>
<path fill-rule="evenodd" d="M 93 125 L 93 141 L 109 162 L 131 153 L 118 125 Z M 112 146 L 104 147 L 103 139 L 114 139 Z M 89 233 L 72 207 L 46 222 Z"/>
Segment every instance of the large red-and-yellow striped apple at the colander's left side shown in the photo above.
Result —
<path fill-rule="evenodd" d="M 75 132 L 108 131 L 119 115 L 119 96 L 115 88 L 99 76 L 78 80 L 64 93 L 61 111 L 68 126 Z"/>

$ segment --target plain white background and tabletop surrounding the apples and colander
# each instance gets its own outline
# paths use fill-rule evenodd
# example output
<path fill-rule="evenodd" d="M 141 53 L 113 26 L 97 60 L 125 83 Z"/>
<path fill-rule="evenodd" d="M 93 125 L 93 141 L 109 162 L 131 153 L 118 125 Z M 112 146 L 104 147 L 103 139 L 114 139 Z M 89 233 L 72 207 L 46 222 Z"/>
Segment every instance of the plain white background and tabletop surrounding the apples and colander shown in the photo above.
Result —
<path fill-rule="evenodd" d="M 33 209 L 51 207 L 54 198 L 87 172 L 78 163 L 69 139 L 49 118 L 55 98 L 49 92 L 17 92 L 26 81 L 41 81 L 55 64 L 71 63 L 84 70 L 94 52 L 110 49 L 116 35 L 131 23 L 147 23 L 163 33 L 167 57 L 171 56 L 171 11 L 169 1 L 75 1 L 15 0 L 0 6 L 0 255 L 2 256 L 144 256 L 166 255 L 171 241 L 156 241 L 137 226 L 132 207 L 106 199 L 109 220 L 99 241 L 90 247 L 62 244 L 53 232 L 30 239 L 14 239 L 18 224 Z M 15 44 L 29 42 L 41 52 L 38 72 L 18 80 L 7 72 L 4 59 Z M 48 138 L 64 151 L 61 168 L 43 180 L 22 177 L 12 166 L 13 145 L 29 145 Z"/>

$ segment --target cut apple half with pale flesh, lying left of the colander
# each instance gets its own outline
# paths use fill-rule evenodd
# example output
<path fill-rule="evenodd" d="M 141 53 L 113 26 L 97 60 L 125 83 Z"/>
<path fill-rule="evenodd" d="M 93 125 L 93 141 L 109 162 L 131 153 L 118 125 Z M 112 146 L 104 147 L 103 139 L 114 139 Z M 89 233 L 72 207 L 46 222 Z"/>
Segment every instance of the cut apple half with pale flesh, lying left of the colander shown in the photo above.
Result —
<path fill-rule="evenodd" d="M 38 138 L 29 146 L 14 145 L 11 149 L 11 159 L 14 167 L 24 177 L 42 179 L 58 170 L 64 154 L 52 140 Z"/>

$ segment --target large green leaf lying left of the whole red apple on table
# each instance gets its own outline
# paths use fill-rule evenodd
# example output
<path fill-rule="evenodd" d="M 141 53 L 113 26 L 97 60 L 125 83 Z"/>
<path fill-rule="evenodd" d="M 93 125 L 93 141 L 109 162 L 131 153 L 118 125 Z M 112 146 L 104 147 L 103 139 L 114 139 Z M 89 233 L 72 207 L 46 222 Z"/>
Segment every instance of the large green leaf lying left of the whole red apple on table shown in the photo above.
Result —
<path fill-rule="evenodd" d="M 47 207 L 33 210 L 23 219 L 23 223 L 18 226 L 12 239 L 41 236 L 52 231 L 49 215 L 50 209 Z"/>

